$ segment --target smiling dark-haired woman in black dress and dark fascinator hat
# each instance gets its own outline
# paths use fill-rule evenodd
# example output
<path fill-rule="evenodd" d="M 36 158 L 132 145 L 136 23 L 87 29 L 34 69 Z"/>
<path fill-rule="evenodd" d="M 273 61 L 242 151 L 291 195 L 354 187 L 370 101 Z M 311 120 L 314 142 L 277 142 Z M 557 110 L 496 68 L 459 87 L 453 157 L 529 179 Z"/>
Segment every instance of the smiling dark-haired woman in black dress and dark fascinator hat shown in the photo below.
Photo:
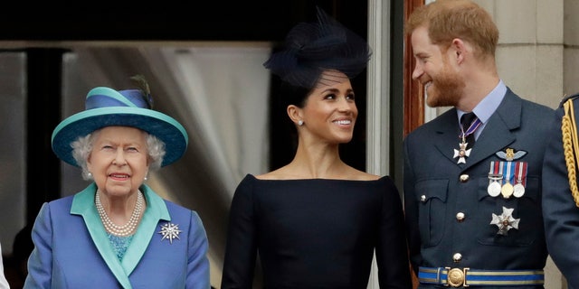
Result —
<path fill-rule="evenodd" d="M 350 79 L 370 55 L 362 38 L 318 9 L 318 23 L 299 23 L 264 63 L 290 92 L 284 101 L 298 148 L 287 165 L 238 185 L 223 289 L 252 288 L 258 254 L 264 288 L 366 288 L 374 252 L 382 288 L 412 287 L 394 182 L 338 152 L 358 113 Z"/>

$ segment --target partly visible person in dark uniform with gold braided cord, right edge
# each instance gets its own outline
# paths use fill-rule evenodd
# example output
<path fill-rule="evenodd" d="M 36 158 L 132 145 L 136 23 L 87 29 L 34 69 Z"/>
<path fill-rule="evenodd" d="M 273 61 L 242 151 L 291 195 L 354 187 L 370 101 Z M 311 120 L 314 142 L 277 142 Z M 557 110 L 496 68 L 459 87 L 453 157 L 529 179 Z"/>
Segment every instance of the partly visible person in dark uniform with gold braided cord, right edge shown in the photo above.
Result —
<path fill-rule="evenodd" d="M 564 98 L 555 117 L 543 167 L 546 245 L 568 288 L 579 288 L 579 94 Z"/>

